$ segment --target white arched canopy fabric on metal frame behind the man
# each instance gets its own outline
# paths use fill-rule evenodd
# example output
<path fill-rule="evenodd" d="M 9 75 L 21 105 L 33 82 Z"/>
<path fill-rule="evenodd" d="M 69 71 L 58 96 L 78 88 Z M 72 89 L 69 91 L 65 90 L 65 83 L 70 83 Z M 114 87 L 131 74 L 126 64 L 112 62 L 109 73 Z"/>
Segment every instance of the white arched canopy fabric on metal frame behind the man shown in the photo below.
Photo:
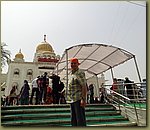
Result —
<path fill-rule="evenodd" d="M 85 71 L 86 78 L 99 75 L 120 65 L 134 55 L 130 52 L 104 44 L 80 44 L 66 49 L 57 64 L 57 74 L 64 79 L 70 73 L 70 59 L 76 57 L 80 62 L 80 69 Z"/>

